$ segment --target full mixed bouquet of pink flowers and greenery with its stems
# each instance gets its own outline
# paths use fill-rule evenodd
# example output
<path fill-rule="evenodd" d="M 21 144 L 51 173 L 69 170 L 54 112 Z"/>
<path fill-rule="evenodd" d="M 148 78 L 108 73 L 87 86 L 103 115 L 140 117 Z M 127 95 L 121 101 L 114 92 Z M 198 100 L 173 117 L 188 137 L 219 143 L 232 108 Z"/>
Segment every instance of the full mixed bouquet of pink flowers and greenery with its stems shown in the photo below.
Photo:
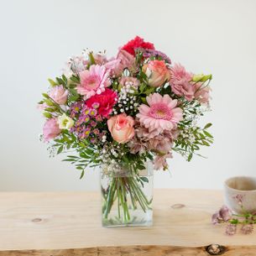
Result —
<path fill-rule="evenodd" d="M 154 49 L 138 36 L 123 45 L 118 55 L 84 50 L 72 57 L 63 74 L 50 81 L 39 107 L 46 121 L 43 138 L 51 153 L 81 170 L 102 166 L 112 180 L 102 189 L 107 218 L 118 200 L 119 217 L 130 218 L 129 208 L 150 208 L 142 188 L 149 182 L 139 175 L 147 162 L 168 170 L 173 152 L 188 161 L 201 146 L 213 142 L 198 119 L 209 111 L 212 75 L 195 75 Z M 51 141 L 51 142 L 50 142 Z M 123 173 L 128 177 L 116 176 Z M 128 196 L 132 201 L 129 207 Z M 121 210 L 120 210 L 121 207 Z M 121 213 L 120 213 L 121 211 Z"/>

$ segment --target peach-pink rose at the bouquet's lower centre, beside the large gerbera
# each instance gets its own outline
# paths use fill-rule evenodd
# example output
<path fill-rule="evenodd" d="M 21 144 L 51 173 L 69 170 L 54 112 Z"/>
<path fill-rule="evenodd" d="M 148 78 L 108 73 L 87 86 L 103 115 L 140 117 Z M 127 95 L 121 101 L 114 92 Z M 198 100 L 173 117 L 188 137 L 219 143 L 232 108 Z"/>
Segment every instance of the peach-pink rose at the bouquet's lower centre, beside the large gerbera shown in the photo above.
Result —
<path fill-rule="evenodd" d="M 134 136 L 134 120 L 127 114 L 119 114 L 107 120 L 112 138 L 119 144 L 127 143 Z"/>

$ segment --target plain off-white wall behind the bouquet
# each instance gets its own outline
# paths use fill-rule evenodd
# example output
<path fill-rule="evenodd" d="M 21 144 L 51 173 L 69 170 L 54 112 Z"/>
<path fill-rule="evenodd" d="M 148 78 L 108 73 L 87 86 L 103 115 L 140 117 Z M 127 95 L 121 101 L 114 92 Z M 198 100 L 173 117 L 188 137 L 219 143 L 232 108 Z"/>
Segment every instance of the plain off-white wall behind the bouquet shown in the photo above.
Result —
<path fill-rule="evenodd" d="M 221 188 L 232 175 L 255 175 L 256 1 L 1 1 L 0 191 L 96 190 L 98 175 L 49 159 L 36 109 L 47 78 L 70 55 L 108 50 L 141 35 L 189 71 L 212 73 L 215 144 L 208 159 L 179 155 L 155 187 Z"/>

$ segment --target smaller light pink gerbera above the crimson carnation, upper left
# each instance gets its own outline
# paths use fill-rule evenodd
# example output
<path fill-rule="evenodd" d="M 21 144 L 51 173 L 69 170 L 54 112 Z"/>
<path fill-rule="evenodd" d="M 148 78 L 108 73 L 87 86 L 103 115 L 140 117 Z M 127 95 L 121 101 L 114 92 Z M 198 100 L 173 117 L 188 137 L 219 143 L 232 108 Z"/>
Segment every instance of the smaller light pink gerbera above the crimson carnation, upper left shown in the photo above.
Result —
<path fill-rule="evenodd" d="M 76 87 L 76 90 L 85 99 L 90 98 L 95 94 L 101 94 L 107 86 L 110 86 L 109 72 L 101 65 L 91 65 L 89 70 L 79 73 L 81 84 Z"/>

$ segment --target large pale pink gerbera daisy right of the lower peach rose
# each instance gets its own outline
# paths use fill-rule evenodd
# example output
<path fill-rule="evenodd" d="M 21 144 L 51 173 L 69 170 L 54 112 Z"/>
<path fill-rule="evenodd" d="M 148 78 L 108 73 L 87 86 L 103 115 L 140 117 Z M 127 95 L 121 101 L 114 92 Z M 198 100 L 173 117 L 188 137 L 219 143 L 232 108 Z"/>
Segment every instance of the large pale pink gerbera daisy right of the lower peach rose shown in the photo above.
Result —
<path fill-rule="evenodd" d="M 138 107 L 137 117 L 149 131 L 157 130 L 161 133 L 164 130 L 171 130 L 182 120 L 182 110 L 176 107 L 177 100 L 173 100 L 169 95 L 165 94 L 162 97 L 159 93 L 150 94 L 147 102 L 149 106 L 142 104 Z"/>

